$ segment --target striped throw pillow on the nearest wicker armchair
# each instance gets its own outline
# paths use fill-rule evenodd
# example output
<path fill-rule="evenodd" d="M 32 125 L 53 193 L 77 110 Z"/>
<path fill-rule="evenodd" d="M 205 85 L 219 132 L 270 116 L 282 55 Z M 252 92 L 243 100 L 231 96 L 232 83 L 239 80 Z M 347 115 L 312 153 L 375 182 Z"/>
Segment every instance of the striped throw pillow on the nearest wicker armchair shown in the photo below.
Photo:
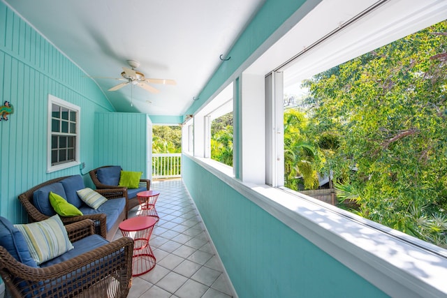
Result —
<path fill-rule="evenodd" d="M 31 258 L 37 265 L 73 249 L 64 224 L 57 214 L 45 221 L 15 225 L 15 228 L 22 232 Z"/>

